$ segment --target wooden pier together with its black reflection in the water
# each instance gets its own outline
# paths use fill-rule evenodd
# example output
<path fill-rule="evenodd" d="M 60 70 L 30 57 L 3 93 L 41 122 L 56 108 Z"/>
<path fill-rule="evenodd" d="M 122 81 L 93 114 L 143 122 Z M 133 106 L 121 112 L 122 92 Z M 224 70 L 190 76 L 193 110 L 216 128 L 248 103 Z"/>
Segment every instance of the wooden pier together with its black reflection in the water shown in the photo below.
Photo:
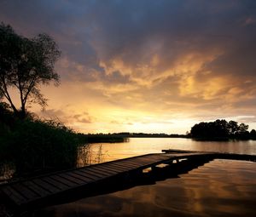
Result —
<path fill-rule="evenodd" d="M 177 178 L 178 174 L 187 173 L 214 158 L 256 160 L 255 156 L 249 155 L 170 150 L 166 152 L 129 157 L 9 183 L 1 186 L 1 198 L 13 209 L 22 212 Z"/>

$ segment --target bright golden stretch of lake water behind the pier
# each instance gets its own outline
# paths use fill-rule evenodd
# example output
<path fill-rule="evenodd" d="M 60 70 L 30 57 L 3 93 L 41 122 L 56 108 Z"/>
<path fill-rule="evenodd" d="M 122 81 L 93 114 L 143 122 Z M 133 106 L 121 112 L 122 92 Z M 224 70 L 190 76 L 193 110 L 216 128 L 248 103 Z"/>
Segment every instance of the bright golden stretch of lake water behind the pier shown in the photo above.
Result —
<path fill-rule="evenodd" d="M 88 146 L 85 146 L 85 154 L 81 154 L 79 165 L 101 163 L 148 153 L 160 153 L 163 149 L 170 148 L 255 155 L 256 140 L 216 142 L 180 138 L 131 138 L 129 142 L 124 143 L 92 144 L 90 145 L 90 149 L 88 149 Z"/>

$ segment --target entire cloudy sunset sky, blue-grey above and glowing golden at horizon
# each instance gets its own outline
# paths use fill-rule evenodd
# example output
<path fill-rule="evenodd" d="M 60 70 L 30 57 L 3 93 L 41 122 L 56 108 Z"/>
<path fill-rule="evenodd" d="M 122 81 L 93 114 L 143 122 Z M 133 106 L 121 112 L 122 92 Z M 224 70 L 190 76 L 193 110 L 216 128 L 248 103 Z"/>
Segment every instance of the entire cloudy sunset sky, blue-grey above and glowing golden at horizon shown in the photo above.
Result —
<path fill-rule="evenodd" d="M 201 121 L 256 128 L 256 1 L 1 0 L 0 21 L 61 49 L 61 85 L 43 87 L 84 133 L 184 134 Z"/>

